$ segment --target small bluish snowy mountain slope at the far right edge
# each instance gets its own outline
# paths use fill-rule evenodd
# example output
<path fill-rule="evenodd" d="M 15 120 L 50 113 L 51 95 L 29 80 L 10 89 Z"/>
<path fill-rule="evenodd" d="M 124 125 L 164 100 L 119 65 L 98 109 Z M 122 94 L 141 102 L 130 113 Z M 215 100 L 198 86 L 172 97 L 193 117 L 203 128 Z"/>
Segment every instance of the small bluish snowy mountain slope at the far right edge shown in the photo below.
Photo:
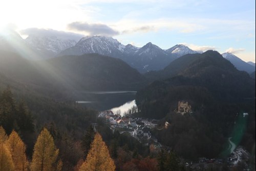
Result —
<path fill-rule="evenodd" d="M 232 53 L 228 53 L 228 52 L 222 53 L 222 56 L 226 60 L 230 61 L 240 71 L 246 71 L 248 73 L 252 73 L 253 71 L 255 71 L 254 66 L 244 62 L 243 60 L 238 58 L 238 56 Z"/>

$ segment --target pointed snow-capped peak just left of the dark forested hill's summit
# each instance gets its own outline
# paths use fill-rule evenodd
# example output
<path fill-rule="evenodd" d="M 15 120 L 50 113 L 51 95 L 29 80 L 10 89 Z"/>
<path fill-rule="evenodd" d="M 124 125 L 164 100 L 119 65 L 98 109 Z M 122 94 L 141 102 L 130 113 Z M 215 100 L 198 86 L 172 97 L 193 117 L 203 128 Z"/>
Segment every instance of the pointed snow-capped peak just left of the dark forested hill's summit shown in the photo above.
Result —
<path fill-rule="evenodd" d="M 166 52 L 175 58 L 179 58 L 180 56 L 183 56 L 183 55 L 189 54 L 189 53 L 190 54 L 199 53 L 195 50 L 190 49 L 189 47 L 187 47 L 185 45 L 175 45 L 174 47 L 167 49 Z"/>

